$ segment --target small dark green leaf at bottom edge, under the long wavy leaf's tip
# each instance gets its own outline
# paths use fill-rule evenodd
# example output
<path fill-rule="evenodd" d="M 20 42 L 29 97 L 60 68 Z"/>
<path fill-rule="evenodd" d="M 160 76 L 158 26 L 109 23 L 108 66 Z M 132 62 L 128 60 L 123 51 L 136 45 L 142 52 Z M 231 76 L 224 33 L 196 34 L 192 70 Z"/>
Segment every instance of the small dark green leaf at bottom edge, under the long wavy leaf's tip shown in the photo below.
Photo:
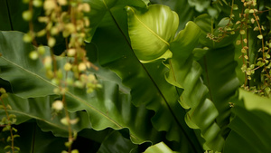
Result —
<path fill-rule="evenodd" d="M 102 142 L 98 153 L 130 152 L 133 148 L 135 145 L 129 139 L 125 139 L 119 132 L 113 131 Z"/>

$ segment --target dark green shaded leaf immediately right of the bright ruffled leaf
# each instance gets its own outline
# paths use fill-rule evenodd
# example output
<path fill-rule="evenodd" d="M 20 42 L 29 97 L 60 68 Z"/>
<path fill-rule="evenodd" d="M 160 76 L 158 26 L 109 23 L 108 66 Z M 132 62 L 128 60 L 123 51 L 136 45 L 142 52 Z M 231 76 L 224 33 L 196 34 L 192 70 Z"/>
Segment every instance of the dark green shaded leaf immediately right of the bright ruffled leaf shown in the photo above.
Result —
<path fill-rule="evenodd" d="M 216 122 L 221 129 L 229 124 L 229 100 L 238 89 L 239 81 L 235 73 L 237 62 L 234 61 L 234 45 L 210 49 L 201 60 L 203 81 L 209 89 L 208 98 L 219 111 Z M 222 131 L 227 137 L 229 130 Z"/>

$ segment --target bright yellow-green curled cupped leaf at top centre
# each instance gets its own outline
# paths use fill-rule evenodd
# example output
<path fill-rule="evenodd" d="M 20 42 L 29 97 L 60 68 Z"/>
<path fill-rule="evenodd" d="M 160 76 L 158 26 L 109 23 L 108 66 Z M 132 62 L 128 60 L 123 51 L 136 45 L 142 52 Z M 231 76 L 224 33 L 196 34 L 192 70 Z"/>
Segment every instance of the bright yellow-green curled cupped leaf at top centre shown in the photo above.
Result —
<path fill-rule="evenodd" d="M 131 45 L 141 61 L 161 57 L 169 49 L 179 24 L 178 14 L 165 5 L 150 5 L 148 10 L 126 7 Z"/>

